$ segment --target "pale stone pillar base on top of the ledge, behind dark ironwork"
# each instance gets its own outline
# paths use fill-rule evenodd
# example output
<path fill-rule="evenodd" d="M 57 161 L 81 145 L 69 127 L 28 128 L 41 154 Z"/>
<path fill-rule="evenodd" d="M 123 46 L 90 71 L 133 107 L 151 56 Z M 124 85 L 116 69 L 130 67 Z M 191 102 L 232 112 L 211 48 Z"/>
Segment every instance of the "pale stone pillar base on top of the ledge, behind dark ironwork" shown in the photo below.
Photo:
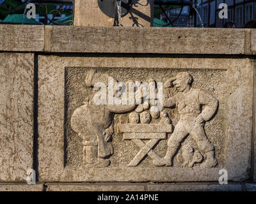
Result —
<path fill-rule="evenodd" d="M 139 0 L 132 6 L 130 13 L 122 17 L 121 25 L 150 27 L 153 22 L 153 1 Z M 81 6 L 83 5 L 83 6 Z M 113 26 L 114 18 L 105 15 L 94 0 L 76 0 L 74 7 L 74 25 Z"/>

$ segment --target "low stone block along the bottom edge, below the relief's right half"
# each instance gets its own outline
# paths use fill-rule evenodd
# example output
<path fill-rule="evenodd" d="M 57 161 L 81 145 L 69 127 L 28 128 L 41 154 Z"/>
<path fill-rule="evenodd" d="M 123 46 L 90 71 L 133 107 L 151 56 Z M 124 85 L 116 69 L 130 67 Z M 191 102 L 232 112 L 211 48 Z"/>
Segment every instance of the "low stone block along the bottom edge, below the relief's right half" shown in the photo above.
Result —
<path fill-rule="evenodd" d="M 148 185 L 148 191 L 242 191 L 240 184 L 154 184 Z"/>

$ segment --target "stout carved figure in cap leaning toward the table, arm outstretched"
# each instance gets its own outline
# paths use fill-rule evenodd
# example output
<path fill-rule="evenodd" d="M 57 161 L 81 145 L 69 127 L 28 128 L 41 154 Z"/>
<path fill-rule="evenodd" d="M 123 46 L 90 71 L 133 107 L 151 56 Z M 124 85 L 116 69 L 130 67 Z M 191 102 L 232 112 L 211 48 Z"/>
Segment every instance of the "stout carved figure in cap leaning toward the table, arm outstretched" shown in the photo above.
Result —
<path fill-rule="evenodd" d="M 86 86 L 94 87 L 97 82 L 108 84 L 109 77 L 106 73 L 88 71 Z M 117 80 L 114 79 L 114 82 Z M 108 158 L 113 154 L 113 115 L 129 112 L 135 107 L 135 102 L 132 105 L 99 105 L 90 96 L 72 113 L 71 126 L 83 138 L 83 160 L 86 166 L 106 167 L 110 164 Z"/>

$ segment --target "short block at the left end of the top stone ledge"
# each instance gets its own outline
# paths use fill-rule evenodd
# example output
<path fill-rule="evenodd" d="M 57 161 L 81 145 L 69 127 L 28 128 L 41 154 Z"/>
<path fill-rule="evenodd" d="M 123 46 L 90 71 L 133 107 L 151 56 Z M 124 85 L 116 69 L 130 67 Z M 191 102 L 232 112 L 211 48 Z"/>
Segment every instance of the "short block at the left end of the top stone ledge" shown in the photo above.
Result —
<path fill-rule="evenodd" d="M 0 25 L 1 51 L 44 51 L 44 26 Z"/>

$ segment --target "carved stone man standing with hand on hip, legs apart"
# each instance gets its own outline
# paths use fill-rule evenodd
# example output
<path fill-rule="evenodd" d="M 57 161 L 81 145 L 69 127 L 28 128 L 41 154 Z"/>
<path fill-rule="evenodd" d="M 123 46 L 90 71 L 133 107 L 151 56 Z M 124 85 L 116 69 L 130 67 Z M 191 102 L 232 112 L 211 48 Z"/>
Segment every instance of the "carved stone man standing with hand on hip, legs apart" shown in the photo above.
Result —
<path fill-rule="evenodd" d="M 205 135 L 204 124 L 216 113 L 218 99 L 205 91 L 193 89 L 192 82 L 193 78 L 189 73 L 180 72 L 175 78 L 170 78 L 164 83 L 164 88 L 174 85 L 178 92 L 164 99 L 163 106 L 168 108 L 176 106 L 180 119 L 168 139 L 166 155 L 153 161 L 156 166 L 172 166 L 173 157 L 188 134 L 195 140 L 200 152 L 204 154 L 205 161 L 200 167 L 211 168 L 217 164 L 214 146 Z M 204 105 L 204 110 L 202 110 L 202 105 Z"/>

